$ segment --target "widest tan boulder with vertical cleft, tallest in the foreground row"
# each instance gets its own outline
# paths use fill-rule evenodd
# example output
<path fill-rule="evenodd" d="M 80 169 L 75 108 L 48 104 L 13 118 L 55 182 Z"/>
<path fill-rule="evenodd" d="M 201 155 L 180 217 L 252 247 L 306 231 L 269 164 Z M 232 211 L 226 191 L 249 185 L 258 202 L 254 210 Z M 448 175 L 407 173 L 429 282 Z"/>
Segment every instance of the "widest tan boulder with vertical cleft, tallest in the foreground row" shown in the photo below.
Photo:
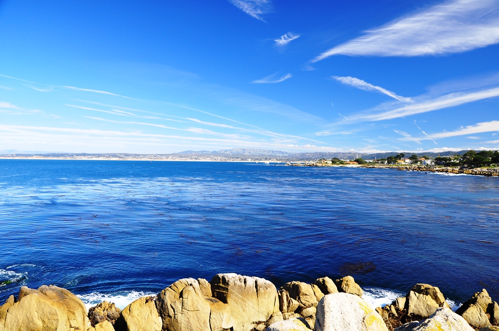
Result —
<path fill-rule="evenodd" d="M 264 330 L 282 320 L 275 286 L 237 274 L 181 279 L 158 294 L 164 331 Z"/>

